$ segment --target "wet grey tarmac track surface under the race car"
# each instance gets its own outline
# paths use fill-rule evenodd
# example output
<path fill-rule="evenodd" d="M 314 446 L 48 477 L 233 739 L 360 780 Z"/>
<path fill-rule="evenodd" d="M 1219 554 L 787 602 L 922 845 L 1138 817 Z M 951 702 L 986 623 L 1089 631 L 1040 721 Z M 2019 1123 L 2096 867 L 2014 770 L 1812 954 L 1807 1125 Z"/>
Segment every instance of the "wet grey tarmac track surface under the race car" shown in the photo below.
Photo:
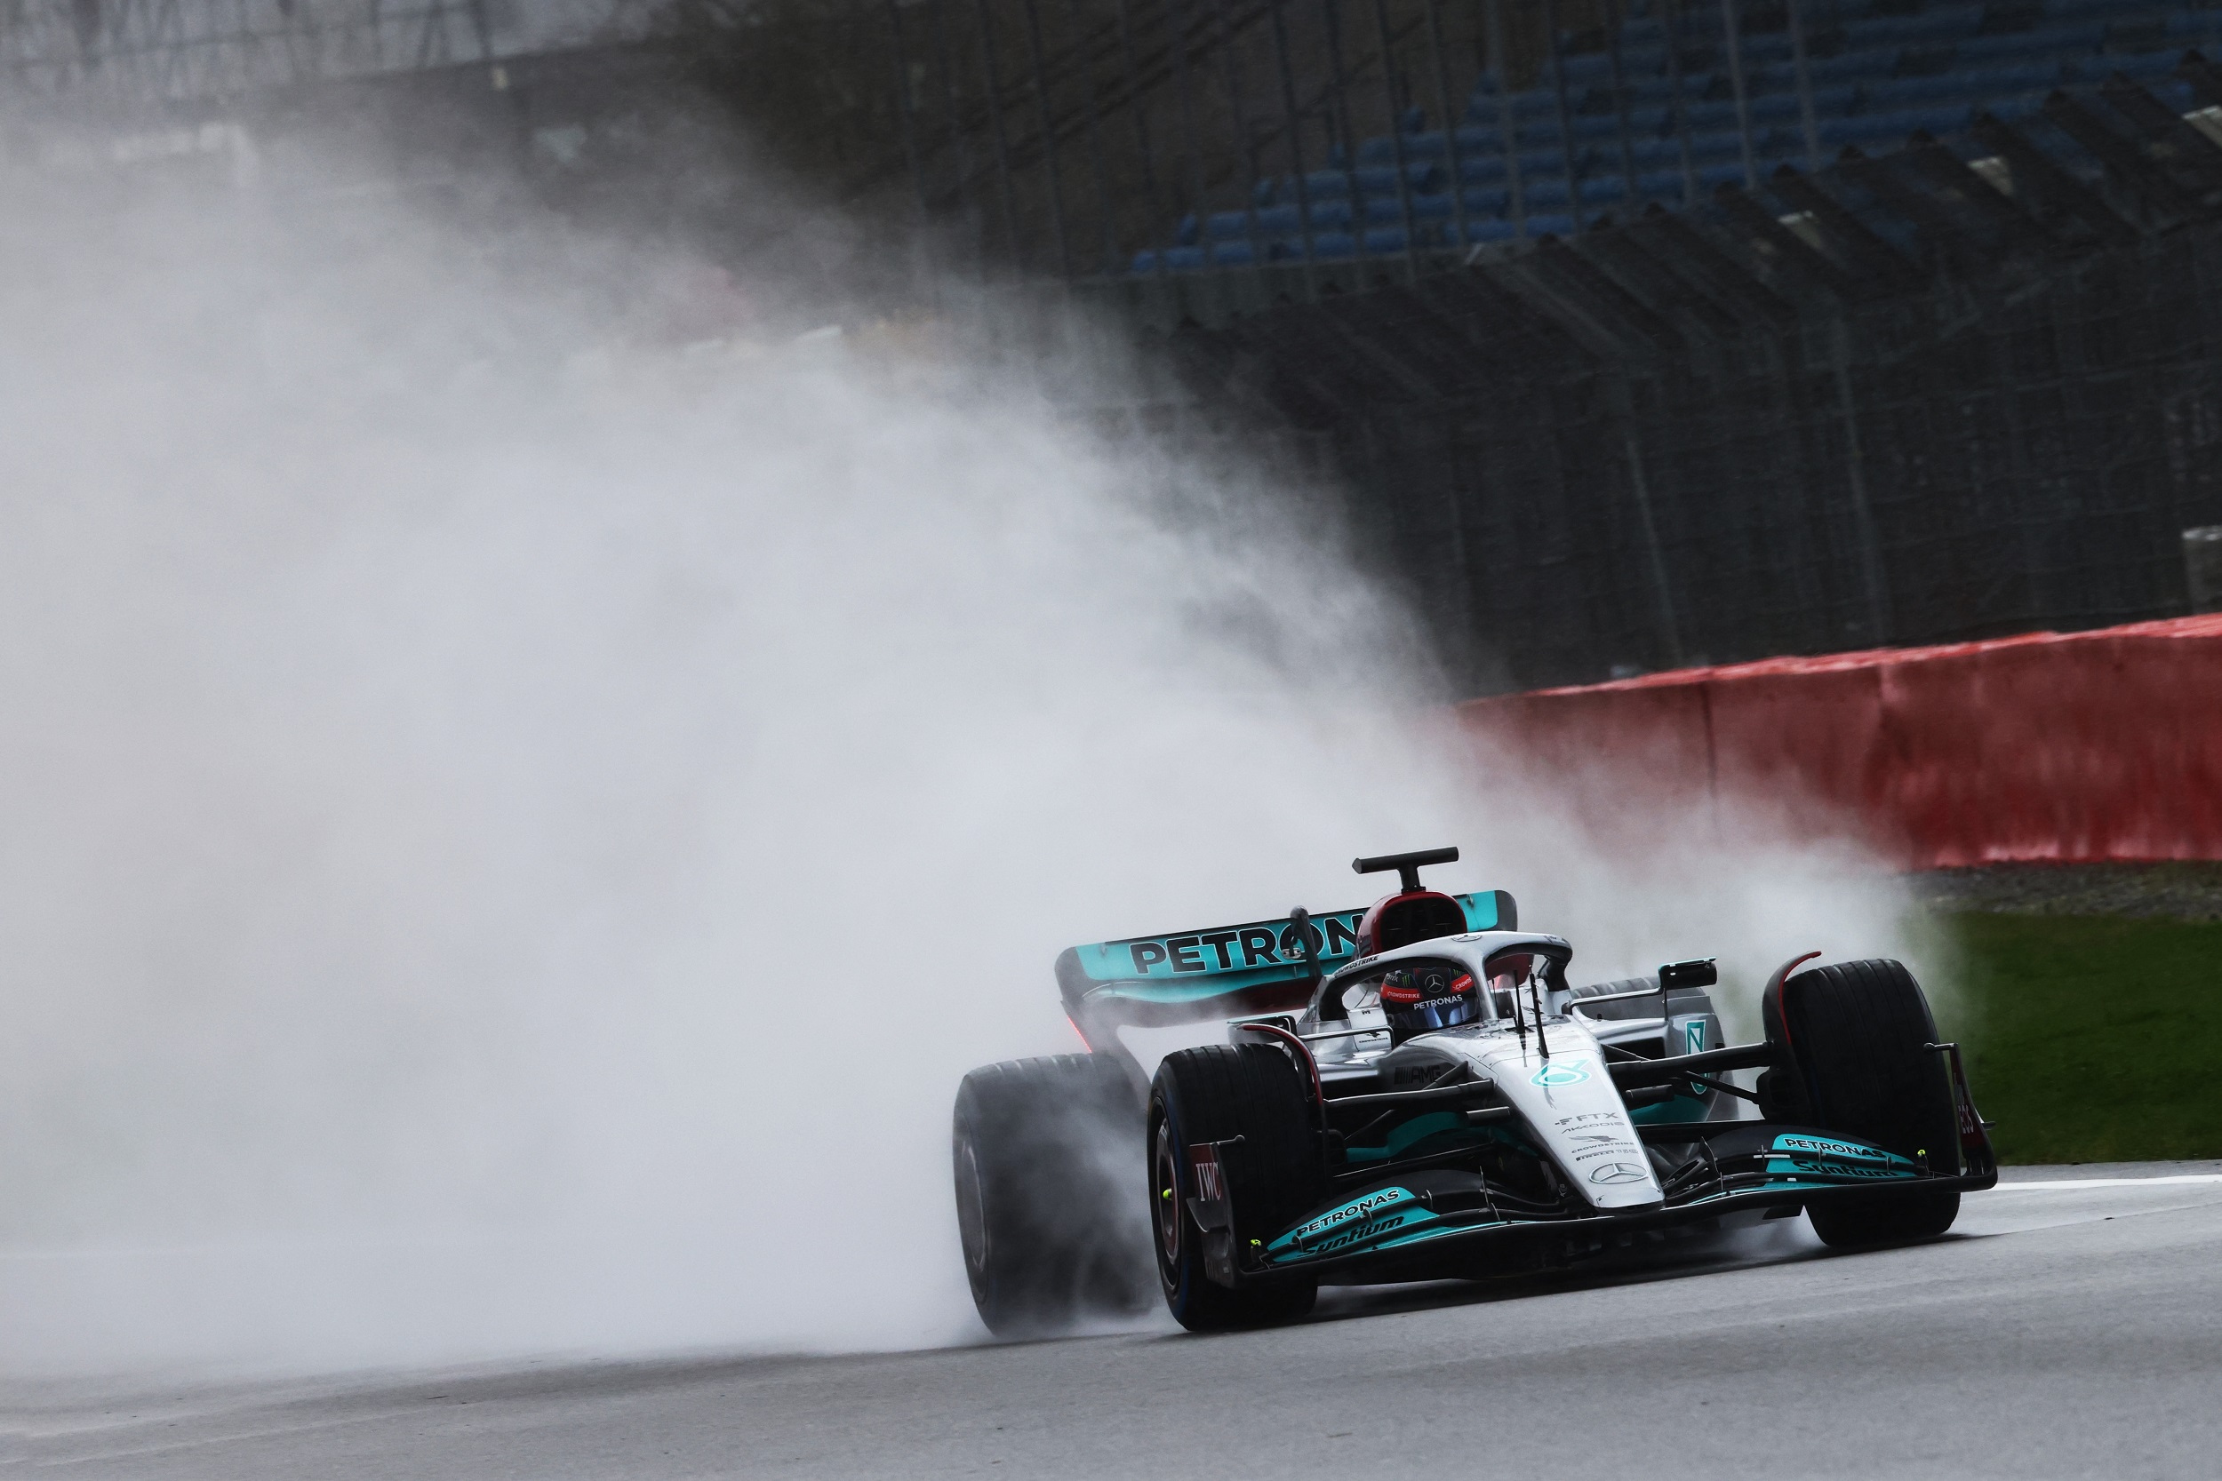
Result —
<path fill-rule="evenodd" d="M 1327 1292 L 1295 1328 L 0 1386 L 0 1474 L 2213 1477 L 2222 1163 L 2013 1168 L 1920 1248 Z"/>

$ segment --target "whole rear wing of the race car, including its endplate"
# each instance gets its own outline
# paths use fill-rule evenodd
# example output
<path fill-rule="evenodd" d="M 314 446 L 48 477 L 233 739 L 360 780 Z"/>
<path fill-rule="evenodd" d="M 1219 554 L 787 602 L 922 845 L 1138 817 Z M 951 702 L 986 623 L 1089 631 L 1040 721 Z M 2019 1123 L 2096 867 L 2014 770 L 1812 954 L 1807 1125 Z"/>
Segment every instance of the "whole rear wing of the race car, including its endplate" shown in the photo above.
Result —
<path fill-rule="evenodd" d="M 1467 930 L 1518 930 L 1520 915 L 1504 890 L 1453 895 Z M 1058 953 L 1058 993 L 1082 1035 L 1091 1021 L 1178 1024 L 1300 1006 L 1313 964 L 1331 973 L 1358 955 L 1364 910 L 1311 917 L 1309 953 L 1298 946 L 1293 917 L 1209 930 L 1129 937 L 1069 946 Z"/>

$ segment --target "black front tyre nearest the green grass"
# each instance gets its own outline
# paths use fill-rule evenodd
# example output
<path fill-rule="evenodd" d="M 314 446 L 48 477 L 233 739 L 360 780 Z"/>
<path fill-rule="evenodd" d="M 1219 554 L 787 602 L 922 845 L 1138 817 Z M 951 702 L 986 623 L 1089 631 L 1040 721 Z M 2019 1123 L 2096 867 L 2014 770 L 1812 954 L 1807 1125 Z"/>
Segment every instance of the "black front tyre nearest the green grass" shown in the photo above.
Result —
<path fill-rule="evenodd" d="M 1762 1092 L 1782 1119 L 1804 1119 L 1886 1152 L 1922 1161 L 1931 1172 L 1960 1172 L 1944 1057 L 1931 1048 L 1938 1028 L 1929 999 L 1898 961 L 1840 961 L 1798 973 L 1762 1004 L 1766 1037 L 1789 1046 L 1795 1081 L 1769 1070 Z M 1949 1188 L 1875 1190 L 1818 1199 L 1806 1208 L 1813 1232 L 1833 1248 L 1933 1239 L 1960 1217 Z"/>

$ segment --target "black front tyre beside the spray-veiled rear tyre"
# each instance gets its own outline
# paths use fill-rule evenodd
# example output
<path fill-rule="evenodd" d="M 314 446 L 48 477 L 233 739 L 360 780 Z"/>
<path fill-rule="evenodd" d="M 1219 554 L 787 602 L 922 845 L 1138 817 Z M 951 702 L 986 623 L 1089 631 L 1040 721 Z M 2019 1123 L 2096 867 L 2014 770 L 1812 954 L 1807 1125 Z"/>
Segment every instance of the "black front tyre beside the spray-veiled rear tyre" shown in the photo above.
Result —
<path fill-rule="evenodd" d="M 1218 1141 L 1233 1201 L 1233 1250 L 1287 1228 L 1327 1197 L 1311 1084 L 1271 1044 L 1213 1044 L 1167 1055 L 1149 1097 L 1149 1212 L 1158 1286 L 1191 1332 L 1271 1326 L 1311 1310 L 1318 1281 L 1231 1290 L 1204 1275 L 1204 1232 L 1189 1212 L 1189 1148 Z"/>

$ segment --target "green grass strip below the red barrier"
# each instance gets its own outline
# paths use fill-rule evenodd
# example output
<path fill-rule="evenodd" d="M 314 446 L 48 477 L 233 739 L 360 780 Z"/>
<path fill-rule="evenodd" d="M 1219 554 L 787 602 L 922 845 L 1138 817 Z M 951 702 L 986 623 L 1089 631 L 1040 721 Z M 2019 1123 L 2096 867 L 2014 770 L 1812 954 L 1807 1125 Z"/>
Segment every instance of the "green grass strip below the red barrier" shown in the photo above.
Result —
<path fill-rule="evenodd" d="M 2222 924 L 1951 915 L 1942 1030 L 2002 1161 L 2222 1157 Z"/>

